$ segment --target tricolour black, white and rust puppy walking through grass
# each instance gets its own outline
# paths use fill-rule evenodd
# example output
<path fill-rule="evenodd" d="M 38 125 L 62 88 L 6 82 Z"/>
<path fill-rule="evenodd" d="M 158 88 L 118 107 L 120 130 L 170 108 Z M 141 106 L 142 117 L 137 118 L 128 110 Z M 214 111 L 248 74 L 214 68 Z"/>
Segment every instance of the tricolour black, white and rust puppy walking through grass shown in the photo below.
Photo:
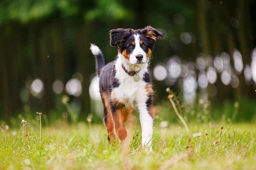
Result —
<path fill-rule="evenodd" d="M 151 26 L 143 29 L 112 29 L 110 45 L 118 46 L 115 61 L 104 64 L 99 47 L 91 44 L 100 78 L 100 95 L 104 105 L 103 121 L 110 143 L 126 139 L 124 122 L 137 108 L 142 128 L 142 146 L 152 150 L 154 112 L 149 64 L 156 37 L 163 34 Z"/>

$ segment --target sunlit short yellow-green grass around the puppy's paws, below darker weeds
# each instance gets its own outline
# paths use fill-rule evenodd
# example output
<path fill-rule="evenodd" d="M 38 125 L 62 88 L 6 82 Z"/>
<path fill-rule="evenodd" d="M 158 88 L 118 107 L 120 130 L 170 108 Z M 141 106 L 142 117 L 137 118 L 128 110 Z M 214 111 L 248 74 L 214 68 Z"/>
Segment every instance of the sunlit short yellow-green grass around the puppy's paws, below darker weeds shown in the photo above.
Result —
<path fill-rule="evenodd" d="M 31 121 L 33 122 L 33 121 Z M 134 121 L 136 122 L 136 121 Z M 253 123 L 188 122 L 160 127 L 154 124 L 153 150 L 141 148 L 138 123 L 127 123 L 128 140 L 110 145 L 103 125 L 56 122 L 42 128 L 27 120 L 0 129 L 0 169 L 209 169 L 240 170 L 256 167 L 256 128 Z M 207 135 L 206 135 L 207 134 Z M 26 147 L 26 143 L 28 147 Z"/>

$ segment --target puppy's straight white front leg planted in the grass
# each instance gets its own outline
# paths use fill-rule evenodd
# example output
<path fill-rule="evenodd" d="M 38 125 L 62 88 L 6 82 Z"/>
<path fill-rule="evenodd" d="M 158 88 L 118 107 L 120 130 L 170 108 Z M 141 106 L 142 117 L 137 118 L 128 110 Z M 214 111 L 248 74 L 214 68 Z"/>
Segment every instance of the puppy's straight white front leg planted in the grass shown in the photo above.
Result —
<path fill-rule="evenodd" d="M 152 95 L 148 92 L 140 92 L 137 97 L 140 112 L 140 125 L 142 129 L 142 146 L 146 151 L 152 152 L 153 117 L 149 109 L 152 107 Z"/>

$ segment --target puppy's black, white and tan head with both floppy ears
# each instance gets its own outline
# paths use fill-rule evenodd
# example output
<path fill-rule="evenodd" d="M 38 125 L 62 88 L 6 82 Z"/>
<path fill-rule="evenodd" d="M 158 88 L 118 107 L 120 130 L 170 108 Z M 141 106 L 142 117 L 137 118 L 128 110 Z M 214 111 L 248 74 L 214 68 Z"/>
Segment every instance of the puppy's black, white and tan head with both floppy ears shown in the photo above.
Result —
<path fill-rule="evenodd" d="M 121 53 L 130 64 L 141 64 L 148 61 L 158 36 L 163 34 L 151 26 L 136 30 L 112 29 L 110 45 L 118 46 L 118 53 Z"/>

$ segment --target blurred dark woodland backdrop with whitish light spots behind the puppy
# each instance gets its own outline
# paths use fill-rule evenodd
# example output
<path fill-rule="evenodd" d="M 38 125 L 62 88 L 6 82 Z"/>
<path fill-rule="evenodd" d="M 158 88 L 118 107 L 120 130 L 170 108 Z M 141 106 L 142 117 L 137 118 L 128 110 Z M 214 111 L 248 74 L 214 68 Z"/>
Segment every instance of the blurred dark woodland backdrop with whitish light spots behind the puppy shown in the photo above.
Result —
<path fill-rule="evenodd" d="M 117 54 L 111 29 L 151 25 L 164 34 L 151 62 L 159 113 L 172 110 L 170 87 L 184 114 L 207 109 L 213 117 L 223 111 L 250 120 L 256 115 L 255 9 L 254 0 L 1 0 L 0 119 L 36 111 L 102 117 L 90 43 L 108 63 Z"/>

